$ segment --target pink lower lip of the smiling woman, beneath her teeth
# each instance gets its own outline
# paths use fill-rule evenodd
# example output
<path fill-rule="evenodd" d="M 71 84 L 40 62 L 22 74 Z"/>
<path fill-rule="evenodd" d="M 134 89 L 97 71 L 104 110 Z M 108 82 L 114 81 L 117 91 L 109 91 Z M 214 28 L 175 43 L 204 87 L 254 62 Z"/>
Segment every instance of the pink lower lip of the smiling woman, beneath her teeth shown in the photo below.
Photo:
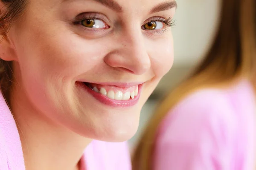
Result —
<path fill-rule="evenodd" d="M 115 100 L 115 99 L 109 99 L 107 96 L 97 93 L 96 91 L 93 91 L 90 89 L 87 85 L 85 85 L 83 82 L 77 82 L 77 85 L 79 85 L 83 90 L 90 93 L 94 98 L 96 98 L 99 102 L 102 102 L 105 105 L 112 106 L 112 107 L 131 107 L 138 103 L 140 99 L 140 92 L 143 84 L 138 85 L 138 95 L 134 97 L 134 99 L 129 100 Z"/>

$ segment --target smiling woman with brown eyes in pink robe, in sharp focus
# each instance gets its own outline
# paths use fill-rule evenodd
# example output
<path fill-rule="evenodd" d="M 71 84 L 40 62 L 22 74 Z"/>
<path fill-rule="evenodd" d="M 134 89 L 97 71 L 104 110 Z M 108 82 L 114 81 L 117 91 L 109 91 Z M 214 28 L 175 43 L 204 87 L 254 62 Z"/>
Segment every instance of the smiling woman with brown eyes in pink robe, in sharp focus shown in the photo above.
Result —
<path fill-rule="evenodd" d="M 176 6 L 1 0 L 0 170 L 129 170 L 123 141 L 172 66 Z"/>

